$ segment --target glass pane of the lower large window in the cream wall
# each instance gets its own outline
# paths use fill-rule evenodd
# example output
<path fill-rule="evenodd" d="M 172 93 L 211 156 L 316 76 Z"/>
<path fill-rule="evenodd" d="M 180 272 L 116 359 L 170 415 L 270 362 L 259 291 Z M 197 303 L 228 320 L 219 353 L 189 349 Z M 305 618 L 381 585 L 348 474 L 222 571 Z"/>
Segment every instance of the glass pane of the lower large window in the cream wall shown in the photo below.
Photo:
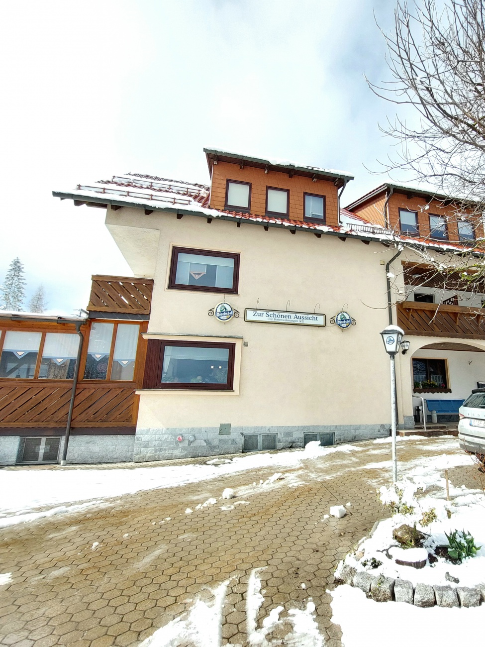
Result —
<path fill-rule="evenodd" d="M 229 349 L 166 346 L 162 382 L 226 384 Z"/>

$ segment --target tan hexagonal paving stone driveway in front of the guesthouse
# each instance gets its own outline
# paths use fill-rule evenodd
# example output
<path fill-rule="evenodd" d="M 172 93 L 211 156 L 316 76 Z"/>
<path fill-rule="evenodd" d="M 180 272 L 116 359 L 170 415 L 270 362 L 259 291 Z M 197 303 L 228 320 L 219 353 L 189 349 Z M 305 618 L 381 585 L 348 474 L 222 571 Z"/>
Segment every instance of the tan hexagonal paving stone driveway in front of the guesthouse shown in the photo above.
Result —
<path fill-rule="evenodd" d="M 407 440 L 400 443 L 399 459 L 460 451 L 453 443 L 449 438 Z M 259 468 L 107 499 L 109 507 L 0 531 L 0 573 L 12 573 L 12 583 L 0 587 L 0 644 L 137 645 L 191 608 L 197 596 L 210 595 L 208 587 L 232 578 L 222 644 L 246 645 L 246 586 L 252 569 L 263 567 L 259 626 L 275 606 L 303 608 L 312 597 L 325 644 L 339 646 L 341 633 L 330 620 L 325 591 L 338 560 L 382 515 L 376 487 L 389 480 L 389 469 L 363 466 L 387 460 L 390 445 L 367 441 L 355 446 L 360 450 L 283 468 L 285 478 L 270 487 L 253 487 L 275 471 Z M 480 487 L 471 464 L 450 470 L 450 478 L 455 485 Z M 226 487 L 246 486 L 235 500 L 247 504 L 223 511 L 221 505 L 230 502 L 218 501 L 185 513 L 219 498 Z M 330 505 L 347 502 L 352 503 L 350 514 L 323 520 Z M 99 545 L 93 547 L 94 542 Z M 283 637 L 287 630 L 277 631 Z"/>

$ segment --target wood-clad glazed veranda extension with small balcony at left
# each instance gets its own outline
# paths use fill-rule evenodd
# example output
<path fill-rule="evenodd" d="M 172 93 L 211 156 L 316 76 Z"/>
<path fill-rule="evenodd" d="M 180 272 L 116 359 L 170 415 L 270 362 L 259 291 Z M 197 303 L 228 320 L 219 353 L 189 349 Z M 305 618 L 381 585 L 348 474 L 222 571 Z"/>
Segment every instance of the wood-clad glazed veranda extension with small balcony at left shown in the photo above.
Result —
<path fill-rule="evenodd" d="M 0 311 L 0 465 L 131 461 L 153 281 L 93 276 L 87 317 Z"/>

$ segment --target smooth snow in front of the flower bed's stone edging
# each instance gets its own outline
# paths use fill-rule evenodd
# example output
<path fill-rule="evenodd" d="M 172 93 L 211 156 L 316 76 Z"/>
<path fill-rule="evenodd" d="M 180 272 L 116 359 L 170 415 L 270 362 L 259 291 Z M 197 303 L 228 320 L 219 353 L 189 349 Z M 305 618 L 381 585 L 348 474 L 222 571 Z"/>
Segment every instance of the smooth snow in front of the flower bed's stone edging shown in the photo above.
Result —
<path fill-rule="evenodd" d="M 347 584 L 331 593 L 332 622 L 341 627 L 343 647 L 472 645 L 483 634 L 485 604 L 420 609 L 405 602 L 374 602 Z"/>

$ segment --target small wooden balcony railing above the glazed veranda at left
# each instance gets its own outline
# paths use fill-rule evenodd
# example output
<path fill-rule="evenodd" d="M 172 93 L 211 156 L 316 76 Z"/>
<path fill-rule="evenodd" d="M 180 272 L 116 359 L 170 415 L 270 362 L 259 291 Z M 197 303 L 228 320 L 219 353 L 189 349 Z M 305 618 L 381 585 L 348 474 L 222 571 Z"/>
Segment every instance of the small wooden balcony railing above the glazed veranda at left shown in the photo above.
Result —
<path fill-rule="evenodd" d="M 87 309 L 98 313 L 150 314 L 153 279 L 126 276 L 91 277 Z"/>

